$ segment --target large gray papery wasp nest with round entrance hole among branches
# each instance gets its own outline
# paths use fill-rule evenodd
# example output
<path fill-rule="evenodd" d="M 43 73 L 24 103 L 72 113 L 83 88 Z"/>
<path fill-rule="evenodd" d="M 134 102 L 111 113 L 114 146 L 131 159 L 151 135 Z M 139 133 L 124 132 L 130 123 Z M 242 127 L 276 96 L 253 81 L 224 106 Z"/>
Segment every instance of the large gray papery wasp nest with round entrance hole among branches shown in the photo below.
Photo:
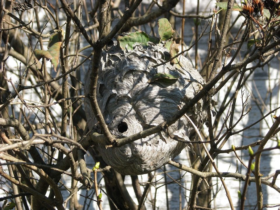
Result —
<path fill-rule="evenodd" d="M 202 88 L 203 78 L 183 56 L 176 60 L 179 64 L 168 62 L 153 67 L 170 57 L 161 44 L 148 42 L 148 46 L 136 45 L 125 52 L 116 40 L 110 44 L 102 52 L 97 100 L 111 134 L 118 138 L 169 120 L 178 112 L 178 106 L 183 107 Z M 90 64 L 85 77 L 85 95 L 90 89 L 91 69 Z M 178 78 L 155 80 L 159 73 Z M 89 128 L 101 133 L 89 98 L 85 99 L 85 112 Z M 205 99 L 199 100 L 186 114 L 201 129 L 206 119 Z M 169 126 L 168 131 L 174 139 L 185 141 L 194 140 L 196 136 L 194 127 L 184 116 Z M 160 168 L 185 148 L 185 142 L 174 139 L 165 130 L 121 147 L 106 149 L 104 142 L 97 144 L 97 149 L 104 161 L 119 173 L 139 175 Z M 192 145 L 188 146 L 191 149 Z"/>

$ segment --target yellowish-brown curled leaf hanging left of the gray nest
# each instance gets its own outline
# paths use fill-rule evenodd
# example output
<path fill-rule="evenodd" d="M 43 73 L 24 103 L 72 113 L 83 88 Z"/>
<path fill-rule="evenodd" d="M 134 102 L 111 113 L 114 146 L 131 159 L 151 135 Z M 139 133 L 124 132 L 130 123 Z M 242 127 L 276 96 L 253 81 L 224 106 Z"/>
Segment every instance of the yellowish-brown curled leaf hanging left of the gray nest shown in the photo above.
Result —
<path fill-rule="evenodd" d="M 41 58 L 50 60 L 50 62 L 53 64 L 54 70 L 56 71 L 61 44 L 62 42 L 56 42 L 48 50 L 35 49 L 34 55 L 38 60 L 40 60 Z"/>

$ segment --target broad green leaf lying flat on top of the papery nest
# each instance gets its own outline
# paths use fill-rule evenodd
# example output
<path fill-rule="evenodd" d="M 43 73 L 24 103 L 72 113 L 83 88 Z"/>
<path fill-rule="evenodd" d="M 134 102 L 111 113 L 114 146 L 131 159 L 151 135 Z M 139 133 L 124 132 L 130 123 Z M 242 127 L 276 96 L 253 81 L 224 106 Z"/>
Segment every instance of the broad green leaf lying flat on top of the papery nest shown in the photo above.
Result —
<path fill-rule="evenodd" d="M 136 31 L 127 36 L 122 36 L 118 40 L 122 50 L 125 50 L 125 47 L 127 47 L 128 50 L 133 50 L 135 44 L 148 46 L 149 37 L 144 31 Z"/>

